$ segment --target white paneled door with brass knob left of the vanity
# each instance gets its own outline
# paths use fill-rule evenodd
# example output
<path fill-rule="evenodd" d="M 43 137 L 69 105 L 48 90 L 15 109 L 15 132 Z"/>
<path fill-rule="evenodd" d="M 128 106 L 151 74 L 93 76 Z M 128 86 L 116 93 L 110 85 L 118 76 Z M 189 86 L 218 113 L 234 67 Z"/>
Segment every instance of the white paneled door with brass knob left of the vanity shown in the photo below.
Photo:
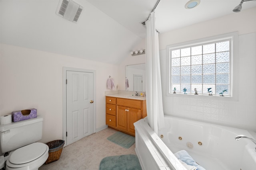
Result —
<path fill-rule="evenodd" d="M 94 131 L 94 76 L 92 72 L 66 71 L 66 144 Z"/>

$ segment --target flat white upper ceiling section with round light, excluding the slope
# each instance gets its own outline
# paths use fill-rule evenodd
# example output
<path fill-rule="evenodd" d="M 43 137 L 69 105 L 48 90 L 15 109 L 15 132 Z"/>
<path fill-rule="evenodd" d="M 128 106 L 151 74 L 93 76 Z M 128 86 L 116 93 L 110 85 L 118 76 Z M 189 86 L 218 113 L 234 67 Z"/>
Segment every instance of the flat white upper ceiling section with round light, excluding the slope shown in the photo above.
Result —
<path fill-rule="evenodd" d="M 186 9 L 184 6 L 188 1 L 160 0 L 155 9 L 156 29 L 160 33 L 164 33 L 234 14 L 232 10 L 238 6 L 241 0 L 201 0 L 196 8 Z M 158 0 L 88 0 L 88 2 L 136 35 L 144 38 L 145 29 L 140 23 L 148 18 Z M 242 11 L 254 7 L 256 7 L 256 1 L 244 2 Z"/>

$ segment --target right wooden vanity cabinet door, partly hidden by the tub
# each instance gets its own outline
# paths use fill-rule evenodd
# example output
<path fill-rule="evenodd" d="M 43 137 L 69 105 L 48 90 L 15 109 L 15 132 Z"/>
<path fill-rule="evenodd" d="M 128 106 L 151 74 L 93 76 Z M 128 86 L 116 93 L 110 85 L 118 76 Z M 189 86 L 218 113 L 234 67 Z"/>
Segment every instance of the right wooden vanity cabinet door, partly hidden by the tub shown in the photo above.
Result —
<path fill-rule="evenodd" d="M 141 110 L 140 109 L 134 109 L 129 108 L 129 111 L 127 113 L 128 117 L 128 131 L 135 134 L 135 128 L 133 123 L 141 119 Z"/>

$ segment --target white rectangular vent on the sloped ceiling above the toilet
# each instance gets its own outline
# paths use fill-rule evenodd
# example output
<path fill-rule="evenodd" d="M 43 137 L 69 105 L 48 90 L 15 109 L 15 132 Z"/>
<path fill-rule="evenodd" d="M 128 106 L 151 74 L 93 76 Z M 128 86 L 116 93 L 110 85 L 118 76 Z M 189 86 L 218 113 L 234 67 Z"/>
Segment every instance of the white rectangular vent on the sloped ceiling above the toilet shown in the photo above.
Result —
<path fill-rule="evenodd" d="M 77 23 L 83 7 L 72 0 L 60 0 L 56 14 L 66 20 Z"/>

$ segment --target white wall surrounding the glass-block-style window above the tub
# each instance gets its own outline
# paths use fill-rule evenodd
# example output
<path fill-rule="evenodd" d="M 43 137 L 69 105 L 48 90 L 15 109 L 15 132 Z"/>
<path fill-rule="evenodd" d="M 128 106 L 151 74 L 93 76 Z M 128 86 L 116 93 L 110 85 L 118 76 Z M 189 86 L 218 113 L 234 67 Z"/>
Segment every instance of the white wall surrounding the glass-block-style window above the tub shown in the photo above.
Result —
<path fill-rule="evenodd" d="M 238 31 L 238 100 L 166 96 L 166 45 Z M 159 36 L 165 115 L 256 131 L 256 8 L 162 33 Z"/>

